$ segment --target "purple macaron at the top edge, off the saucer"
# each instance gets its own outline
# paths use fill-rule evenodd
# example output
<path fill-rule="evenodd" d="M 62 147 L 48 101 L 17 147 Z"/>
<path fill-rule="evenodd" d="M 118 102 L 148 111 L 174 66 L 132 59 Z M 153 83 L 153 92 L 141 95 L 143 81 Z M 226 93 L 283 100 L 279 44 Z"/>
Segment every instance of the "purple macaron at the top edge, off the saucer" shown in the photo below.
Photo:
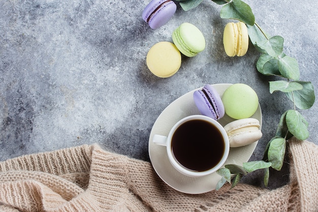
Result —
<path fill-rule="evenodd" d="M 167 23 L 176 9 L 176 4 L 171 0 L 152 0 L 144 9 L 142 19 L 156 29 Z"/>

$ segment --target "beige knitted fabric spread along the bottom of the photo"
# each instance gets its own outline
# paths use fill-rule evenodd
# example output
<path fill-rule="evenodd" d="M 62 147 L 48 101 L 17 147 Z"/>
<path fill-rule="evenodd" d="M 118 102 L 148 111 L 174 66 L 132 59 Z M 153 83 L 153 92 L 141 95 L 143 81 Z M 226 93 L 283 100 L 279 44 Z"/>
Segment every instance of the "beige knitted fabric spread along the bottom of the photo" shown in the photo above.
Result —
<path fill-rule="evenodd" d="M 148 162 L 82 145 L 0 162 L 0 211 L 318 211 L 318 146 L 293 140 L 290 184 L 183 194 Z"/>

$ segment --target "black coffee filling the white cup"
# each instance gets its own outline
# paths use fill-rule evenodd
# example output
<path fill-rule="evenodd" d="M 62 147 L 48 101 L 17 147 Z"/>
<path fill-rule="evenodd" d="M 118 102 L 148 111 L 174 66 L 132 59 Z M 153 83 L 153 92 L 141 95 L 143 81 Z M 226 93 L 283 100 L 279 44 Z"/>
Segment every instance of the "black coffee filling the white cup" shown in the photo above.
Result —
<path fill-rule="evenodd" d="M 205 120 L 193 119 L 181 124 L 171 141 L 175 159 L 185 168 L 206 171 L 216 166 L 225 151 L 221 132 Z"/>

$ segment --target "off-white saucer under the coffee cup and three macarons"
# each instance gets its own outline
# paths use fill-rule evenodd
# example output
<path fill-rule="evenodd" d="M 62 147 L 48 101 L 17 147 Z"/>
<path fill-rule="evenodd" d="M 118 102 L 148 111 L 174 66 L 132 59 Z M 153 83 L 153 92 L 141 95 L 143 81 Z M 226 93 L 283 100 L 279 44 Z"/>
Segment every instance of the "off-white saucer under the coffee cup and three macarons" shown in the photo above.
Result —
<path fill-rule="evenodd" d="M 231 84 L 213 84 L 220 96 Z M 197 88 L 201 89 L 201 88 Z M 195 90 L 197 90 L 195 89 Z M 221 178 L 218 174 L 212 173 L 203 177 L 189 177 L 181 174 L 170 164 L 166 146 L 160 146 L 152 142 L 154 134 L 168 136 L 170 129 L 178 120 L 188 115 L 200 114 L 194 100 L 193 93 L 195 90 L 186 93 L 172 102 L 156 119 L 149 136 L 149 157 L 156 173 L 173 189 L 187 194 L 201 194 L 212 191 L 218 180 Z M 262 111 L 259 105 L 255 114 L 251 117 L 256 118 L 262 125 Z M 225 126 L 232 122 L 233 118 L 225 115 L 218 122 Z M 262 126 L 261 126 L 262 127 Z M 231 148 L 226 164 L 242 165 L 247 162 L 255 150 L 258 142 L 254 142 L 247 146 Z"/>

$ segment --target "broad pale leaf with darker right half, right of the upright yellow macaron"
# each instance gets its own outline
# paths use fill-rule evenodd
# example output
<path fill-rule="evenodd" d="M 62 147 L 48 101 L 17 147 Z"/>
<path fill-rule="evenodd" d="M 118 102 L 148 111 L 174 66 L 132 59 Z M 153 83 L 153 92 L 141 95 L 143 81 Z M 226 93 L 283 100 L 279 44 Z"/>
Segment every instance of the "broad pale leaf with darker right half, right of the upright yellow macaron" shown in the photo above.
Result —
<path fill-rule="evenodd" d="M 265 50 L 269 55 L 275 57 L 282 53 L 284 39 L 281 36 L 271 37 L 269 40 L 257 43 L 257 46 Z"/>

